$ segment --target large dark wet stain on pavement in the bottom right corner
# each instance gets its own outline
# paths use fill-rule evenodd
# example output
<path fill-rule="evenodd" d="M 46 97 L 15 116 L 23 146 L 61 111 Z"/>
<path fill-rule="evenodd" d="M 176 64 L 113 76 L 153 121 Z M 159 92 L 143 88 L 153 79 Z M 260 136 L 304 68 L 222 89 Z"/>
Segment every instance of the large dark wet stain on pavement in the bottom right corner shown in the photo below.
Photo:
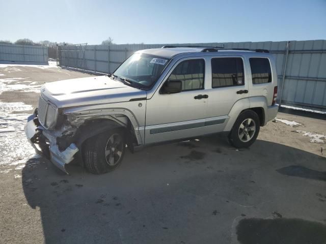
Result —
<path fill-rule="evenodd" d="M 301 219 L 242 219 L 236 234 L 241 244 L 326 243 L 326 225 Z"/>

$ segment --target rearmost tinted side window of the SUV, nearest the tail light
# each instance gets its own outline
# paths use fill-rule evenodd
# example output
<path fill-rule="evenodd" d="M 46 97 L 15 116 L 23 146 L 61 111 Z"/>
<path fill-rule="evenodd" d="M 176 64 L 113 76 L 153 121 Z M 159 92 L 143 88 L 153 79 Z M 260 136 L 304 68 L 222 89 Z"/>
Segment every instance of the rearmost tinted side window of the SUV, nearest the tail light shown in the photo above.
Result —
<path fill-rule="evenodd" d="M 271 82 L 271 71 L 268 58 L 249 58 L 253 84 L 263 84 Z"/>

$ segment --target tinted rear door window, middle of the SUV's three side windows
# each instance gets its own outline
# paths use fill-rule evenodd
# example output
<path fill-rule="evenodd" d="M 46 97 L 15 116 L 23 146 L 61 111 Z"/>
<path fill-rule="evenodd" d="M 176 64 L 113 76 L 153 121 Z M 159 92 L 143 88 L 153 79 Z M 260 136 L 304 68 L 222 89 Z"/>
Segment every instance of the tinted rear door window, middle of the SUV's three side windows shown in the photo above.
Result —
<path fill-rule="evenodd" d="M 243 85 L 243 62 L 240 57 L 211 59 L 212 88 Z"/>

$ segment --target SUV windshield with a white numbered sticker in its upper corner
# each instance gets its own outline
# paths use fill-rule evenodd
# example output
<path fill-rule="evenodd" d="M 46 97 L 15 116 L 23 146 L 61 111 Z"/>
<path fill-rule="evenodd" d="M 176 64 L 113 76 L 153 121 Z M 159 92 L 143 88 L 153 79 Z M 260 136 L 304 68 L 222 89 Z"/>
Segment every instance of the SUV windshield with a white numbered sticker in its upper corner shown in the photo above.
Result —
<path fill-rule="evenodd" d="M 114 72 L 114 76 L 151 87 L 168 65 L 169 59 L 145 53 L 134 53 Z"/>

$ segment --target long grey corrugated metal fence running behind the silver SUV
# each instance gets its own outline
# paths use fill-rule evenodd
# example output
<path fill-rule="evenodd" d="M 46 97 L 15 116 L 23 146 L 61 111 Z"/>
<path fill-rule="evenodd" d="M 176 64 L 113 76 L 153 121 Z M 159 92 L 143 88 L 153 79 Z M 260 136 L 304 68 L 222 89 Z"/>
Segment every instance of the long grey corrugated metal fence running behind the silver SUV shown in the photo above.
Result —
<path fill-rule="evenodd" d="M 111 73 L 133 52 L 147 48 L 160 48 L 164 45 L 268 49 L 276 58 L 279 102 L 281 99 L 284 105 L 326 111 L 326 40 L 111 46 L 67 45 L 59 47 L 59 63 L 61 66 Z"/>

